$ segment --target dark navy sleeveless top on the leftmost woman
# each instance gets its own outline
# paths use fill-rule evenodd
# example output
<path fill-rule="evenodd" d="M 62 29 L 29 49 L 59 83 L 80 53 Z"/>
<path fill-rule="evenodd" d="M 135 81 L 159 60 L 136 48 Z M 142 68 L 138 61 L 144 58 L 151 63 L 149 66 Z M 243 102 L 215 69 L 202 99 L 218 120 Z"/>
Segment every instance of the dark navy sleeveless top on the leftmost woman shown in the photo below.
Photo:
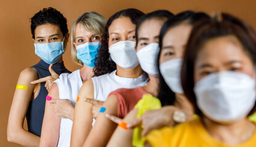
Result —
<path fill-rule="evenodd" d="M 38 72 L 39 78 L 44 78 L 50 75 L 49 72 L 50 64 L 47 64 L 44 61 L 39 61 L 38 64 L 32 66 Z M 55 63 L 52 66 L 52 69 L 60 75 L 62 73 L 71 73 L 64 66 L 63 62 Z M 42 129 L 42 119 L 44 118 L 44 108 L 46 105 L 46 96 L 48 94 L 47 89 L 44 87 L 46 82 L 40 84 L 40 89 L 36 99 L 30 101 L 28 105 L 28 111 L 26 111 L 26 121 L 28 123 L 28 132 L 31 132 L 34 135 L 41 136 Z"/>

